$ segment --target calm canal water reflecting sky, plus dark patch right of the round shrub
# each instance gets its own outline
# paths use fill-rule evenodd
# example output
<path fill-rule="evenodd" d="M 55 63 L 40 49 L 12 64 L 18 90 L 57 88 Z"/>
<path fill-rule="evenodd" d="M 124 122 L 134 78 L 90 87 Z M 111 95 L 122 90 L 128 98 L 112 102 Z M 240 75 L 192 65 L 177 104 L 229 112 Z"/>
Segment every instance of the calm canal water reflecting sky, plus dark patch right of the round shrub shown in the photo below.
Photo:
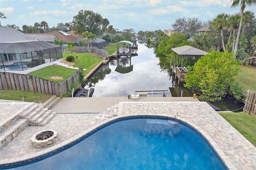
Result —
<path fill-rule="evenodd" d="M 138 56 L 111 60 L 93 75 L 86 86 L 94 87 L 93 97 L 127 96 L 145 90 L 167 90 L 166 96 L 174 97 L 181 96 L 182 91 L 182 96 L 193 96 L 183 85 L 175 84 L 170 72 L 170 62 L 164 56 L 156 56 L 153 49 L 138 43 Z M 234 110 L 243 106 L 229 98 L 213 104 L 221 110 Z"/>

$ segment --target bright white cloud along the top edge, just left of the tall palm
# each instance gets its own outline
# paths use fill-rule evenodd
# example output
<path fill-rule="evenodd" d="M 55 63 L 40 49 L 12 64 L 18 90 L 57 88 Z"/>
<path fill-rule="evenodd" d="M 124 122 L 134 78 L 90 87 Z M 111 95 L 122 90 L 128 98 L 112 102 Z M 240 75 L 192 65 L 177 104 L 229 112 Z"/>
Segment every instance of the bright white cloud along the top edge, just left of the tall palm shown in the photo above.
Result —
<path fill-rule="evenodd" d="M 183 6 L 198 6 L 198 7 L 207 7 L 207 6 L 221 6 L 227 7 L 231 6 L 230 0 L 198 0 L 198 1 L 181 1 Z"/>

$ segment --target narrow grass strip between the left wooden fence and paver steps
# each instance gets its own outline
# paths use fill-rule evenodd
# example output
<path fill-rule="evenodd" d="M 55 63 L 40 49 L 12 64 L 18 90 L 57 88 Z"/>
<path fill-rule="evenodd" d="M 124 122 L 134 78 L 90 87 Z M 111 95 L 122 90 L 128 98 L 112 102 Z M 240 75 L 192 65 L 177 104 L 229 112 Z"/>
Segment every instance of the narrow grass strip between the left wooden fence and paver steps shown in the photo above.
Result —
<path fill-rule="evenodd" d="M 25 102 L 43 103 L 51 98 L 51 94 L 25 92 L 18 90 L 0 90 L 0 99 L 22 101 L 22 96 Z"/>

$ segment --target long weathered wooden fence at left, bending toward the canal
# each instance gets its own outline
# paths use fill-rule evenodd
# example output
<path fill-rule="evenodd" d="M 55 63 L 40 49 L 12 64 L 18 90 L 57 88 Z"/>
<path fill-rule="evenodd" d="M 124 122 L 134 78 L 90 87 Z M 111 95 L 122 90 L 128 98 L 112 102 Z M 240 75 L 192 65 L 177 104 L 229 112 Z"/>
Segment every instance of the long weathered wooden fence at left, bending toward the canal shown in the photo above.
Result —
<path fill-rule="evenodd" d="M 78 77 L 78 72 L 75 72 L 61 83 L 56 83 L 32 75 L 0 72 L 0 90 L 22 90 L 61 96 L 70 89 L 72 83 L 77 82 Z"/>

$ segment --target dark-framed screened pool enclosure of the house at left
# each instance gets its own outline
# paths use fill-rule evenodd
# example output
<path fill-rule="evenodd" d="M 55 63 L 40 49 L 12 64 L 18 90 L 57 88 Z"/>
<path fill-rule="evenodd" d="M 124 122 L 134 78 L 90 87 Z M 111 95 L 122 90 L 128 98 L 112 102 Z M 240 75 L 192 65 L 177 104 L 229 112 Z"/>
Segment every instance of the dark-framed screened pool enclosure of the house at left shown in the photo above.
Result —
<path fill-rule="evenodd" d="M 43 41 L 0 43 L 0 71 L 26 70 L 62 59 L 61 46 Z"/>

